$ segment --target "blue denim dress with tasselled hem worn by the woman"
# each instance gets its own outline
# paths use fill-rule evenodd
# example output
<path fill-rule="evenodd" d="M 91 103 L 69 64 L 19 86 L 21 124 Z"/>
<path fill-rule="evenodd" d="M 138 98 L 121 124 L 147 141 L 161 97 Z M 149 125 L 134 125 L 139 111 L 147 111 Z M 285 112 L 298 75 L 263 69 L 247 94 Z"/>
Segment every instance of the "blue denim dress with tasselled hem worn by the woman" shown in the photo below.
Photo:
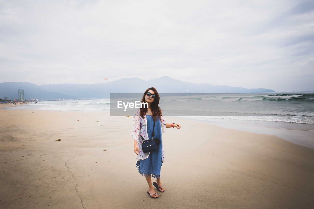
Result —
<path fill-rule="evenodd" d="M 146 118 L 147 118 L 147 133 L 149 139 L 151 139 L 153 133 L 154 120 L 151 115 L 146 115 Z M 162 142 L 161 142 L 161 125 L 159 119 L 155 121 L 154 133 L 155 135 L 153 139 L 160 140 L 159 145 L 157 144 L 157 150 L 155 150 L 154 152 L 150 152 L 148 158 L 139 160 L 136 163 L 136 167 L 138 168 L 138 172 L 143 176 L 153 176 L 154 178 L 160 178 L 160 167 L 162 163 L 161 162 Z"/>

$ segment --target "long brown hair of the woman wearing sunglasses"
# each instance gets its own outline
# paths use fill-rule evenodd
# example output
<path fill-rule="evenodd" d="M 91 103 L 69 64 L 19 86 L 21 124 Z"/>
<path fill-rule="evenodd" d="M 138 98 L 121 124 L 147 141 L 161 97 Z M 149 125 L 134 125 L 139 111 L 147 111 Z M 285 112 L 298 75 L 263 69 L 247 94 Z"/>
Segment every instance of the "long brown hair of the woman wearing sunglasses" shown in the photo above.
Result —
<path fill-rule="evenodd" d="M 142 101 L 141 101 L 141 102 L 144 102 L 144 103 L 145 103 L 145 96 L 146 96 L 146 94 L 147 94 L 147 92 L 148 92 L 149 90 L 153 90 L 153 91 L 155 92 L 155 95 L 156 95 L 154 101 L 150 104 L 150 109 L 152 110 L 152 116 L 153 116 L 153 118 L 154 118 L 154 121 L 157 121 L 157 118 L 160 119 L 162 113 L 161 113 L 161 110 L 160 110 L 160 107 L 159 107 L 159 99 L 160 99 L 160 97 L 159 97 L 159 94 L 158 94 L 156 88 L 151 87 L 151 88 L 146 89 L 146 91 L 145 91 L 144 94 L 143 94 L 143 97 L 142 97 Z M 146 113 L 147 113 L 147 111 L 148 111 L 148 110 L 147 110 L 148 108 L 146 108 L 145 105 L 143 105 L 143 106 L 144 106 L 144 107 L 141 107 L 141 108 L 140 108 L 140 111 L 141 111 L 141 117 L 142 117 L 142 118 L 145 118 L 145 115 L 146 115 Z"/>

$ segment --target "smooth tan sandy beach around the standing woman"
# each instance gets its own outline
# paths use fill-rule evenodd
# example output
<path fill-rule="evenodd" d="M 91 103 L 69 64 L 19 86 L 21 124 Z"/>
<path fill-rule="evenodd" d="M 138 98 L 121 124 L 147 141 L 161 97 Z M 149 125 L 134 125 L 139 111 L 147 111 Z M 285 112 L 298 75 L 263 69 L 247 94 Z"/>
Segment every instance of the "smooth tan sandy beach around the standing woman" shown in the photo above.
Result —
<path fill-rule="evenodd" d="M 279 137 L 165 115 L 181 129 L 163 134 L 165 192 L 152 199 L 133 117 L 0 114 L 0 208 L 314 208 L 314 149 Z"/>

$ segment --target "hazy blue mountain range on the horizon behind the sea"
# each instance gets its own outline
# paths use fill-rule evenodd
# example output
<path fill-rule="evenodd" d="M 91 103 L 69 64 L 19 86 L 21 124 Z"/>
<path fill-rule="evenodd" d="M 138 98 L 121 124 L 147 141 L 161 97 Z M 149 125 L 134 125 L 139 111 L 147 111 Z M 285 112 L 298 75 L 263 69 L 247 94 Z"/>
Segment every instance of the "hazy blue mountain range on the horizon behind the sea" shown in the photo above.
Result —
<path fill-rule="evenodd" d="M 33 83 L 0 83 L 0 98 L 18 99 L 18 89 L 24 90 L 24 99 L 97 99 L 110 97 L 110 93 L 143 93 L 146 88 L 155 87 L 159 93 L 266 93 L 275 92 L 266 88 L 240 88 L 214 86 L 208 83 L 182 82 L 167 76 L 144 81 L 139 78 L 122 78 L 97 84 L 49 84 L 37 86 Z"/>

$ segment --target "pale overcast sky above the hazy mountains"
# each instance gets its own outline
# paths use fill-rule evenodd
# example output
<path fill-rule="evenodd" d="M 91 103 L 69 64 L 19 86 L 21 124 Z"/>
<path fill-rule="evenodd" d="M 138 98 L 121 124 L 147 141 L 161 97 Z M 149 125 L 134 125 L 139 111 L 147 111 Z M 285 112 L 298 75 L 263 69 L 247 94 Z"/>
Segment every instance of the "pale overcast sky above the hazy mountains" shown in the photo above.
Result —
<path fill-rule="evenodd" d="M 314 90 L 312 0 L 0 0 L 0 33 L 0 83 Z"/>

